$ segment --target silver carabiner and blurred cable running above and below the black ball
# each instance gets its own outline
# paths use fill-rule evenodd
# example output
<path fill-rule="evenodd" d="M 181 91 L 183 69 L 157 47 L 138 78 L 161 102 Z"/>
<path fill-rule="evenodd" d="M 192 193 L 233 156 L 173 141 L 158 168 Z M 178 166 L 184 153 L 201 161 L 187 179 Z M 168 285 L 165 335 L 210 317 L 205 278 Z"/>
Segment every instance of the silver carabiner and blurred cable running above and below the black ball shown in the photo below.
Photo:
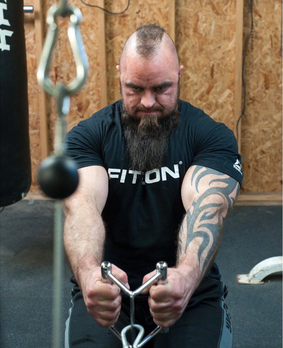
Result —
<path fill-rule="evenodd" d="M 63 83 L 53 84 L 49 77 L 49 68 L 52 58 L 53 49 L 57 38 L 58 16 L 70 16 L 68 26 L 68 37 L 76 63 L 77 76 L 69 85 Z M 81 39 L 79 25 L 82 15 L 77 7 L 69 6 L 67 0 L 61 0 L 58 5 L 53 5 L 48 10 L 47 23 L 49 24 L 46 40 L 42 49 L 39 62 L 37 79 L 45 92 L 53 95 L 57 101 L 57 113 L 55 127 L 55 155 L 60 156 L 64 153 L 64 135 L 66 133 L 66 114 L 70 108 L 70 95 L 79 92 L 85 84 L 88 74 L 88 61 L 85 53 L 84 44 Z M 53 240 L 53 348 L 61 347 L 61 302 L 62 302 L 62 268 L 63 268 L 63 211 L 61 200 L 56 200 L 54 210 L 54 240 Z"/>

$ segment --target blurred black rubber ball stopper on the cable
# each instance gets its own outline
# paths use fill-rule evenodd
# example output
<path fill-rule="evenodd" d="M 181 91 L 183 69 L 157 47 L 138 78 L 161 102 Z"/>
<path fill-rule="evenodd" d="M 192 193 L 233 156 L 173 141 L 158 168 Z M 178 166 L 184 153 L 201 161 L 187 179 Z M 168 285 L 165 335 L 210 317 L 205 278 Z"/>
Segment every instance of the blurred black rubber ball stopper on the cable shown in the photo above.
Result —
<path fill-rule="evenodd" d="M 38 183 L 51 198 L 64 199 L 70 196 L 79 183 L 75 161 L 66 155 L 47 157 L 40 165 Z"/>

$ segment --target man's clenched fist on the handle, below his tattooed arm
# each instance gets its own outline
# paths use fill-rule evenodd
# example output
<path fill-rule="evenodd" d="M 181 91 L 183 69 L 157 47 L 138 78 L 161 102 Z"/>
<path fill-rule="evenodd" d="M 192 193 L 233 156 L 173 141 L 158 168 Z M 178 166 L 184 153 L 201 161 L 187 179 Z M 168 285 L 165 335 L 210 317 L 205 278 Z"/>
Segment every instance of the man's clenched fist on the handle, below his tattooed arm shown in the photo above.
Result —
<path fill-rule="evenodd" d="M 143 284 L 156 274 L 152 271 L 143 277 Z M 149 290 L 149 309 L 154 322 L 163 327 L 172 326 L 182 315 L 192 293 L 195 290 L 195 281 L 188 279 L 177 268 L 167 269 L 167 283 L 155 284 Z M 143 293 L 148 292 L 148 289 Z"/>

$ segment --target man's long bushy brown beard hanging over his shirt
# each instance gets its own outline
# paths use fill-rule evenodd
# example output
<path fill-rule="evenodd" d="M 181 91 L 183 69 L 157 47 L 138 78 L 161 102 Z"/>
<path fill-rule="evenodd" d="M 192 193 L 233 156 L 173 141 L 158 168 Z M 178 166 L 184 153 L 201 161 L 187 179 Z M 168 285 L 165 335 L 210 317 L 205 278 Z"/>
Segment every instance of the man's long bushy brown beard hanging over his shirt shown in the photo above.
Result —
<path fill-rule="evenodd" d="M 169 114 L 158 117 L 144 115 L 137 119 L 125 110 L 121 123 L 127 126 L 124 132 L 132 170 L 147 172 L 162 166 L 167 151 L 167 139 L 180 120 L 179 95 L 175 107 Z"/>

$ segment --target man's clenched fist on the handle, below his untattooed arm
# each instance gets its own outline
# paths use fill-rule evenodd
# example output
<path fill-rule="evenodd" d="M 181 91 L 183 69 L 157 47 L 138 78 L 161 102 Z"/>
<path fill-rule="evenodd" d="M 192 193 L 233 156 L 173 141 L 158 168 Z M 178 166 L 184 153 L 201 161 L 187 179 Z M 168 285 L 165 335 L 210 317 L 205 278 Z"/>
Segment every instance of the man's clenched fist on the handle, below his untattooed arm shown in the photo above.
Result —
<path fill-rule="evenodd" d="M 112 264 L 112 274 L 129 289 L 128 277 L 124 271 Z M 80 287 L 88 313 L 101 326 L 114 325 L 121 310 L 120 288 L 111 280 L 102 280 L 101 268 L 96 267 L 80 277 Z"/>

